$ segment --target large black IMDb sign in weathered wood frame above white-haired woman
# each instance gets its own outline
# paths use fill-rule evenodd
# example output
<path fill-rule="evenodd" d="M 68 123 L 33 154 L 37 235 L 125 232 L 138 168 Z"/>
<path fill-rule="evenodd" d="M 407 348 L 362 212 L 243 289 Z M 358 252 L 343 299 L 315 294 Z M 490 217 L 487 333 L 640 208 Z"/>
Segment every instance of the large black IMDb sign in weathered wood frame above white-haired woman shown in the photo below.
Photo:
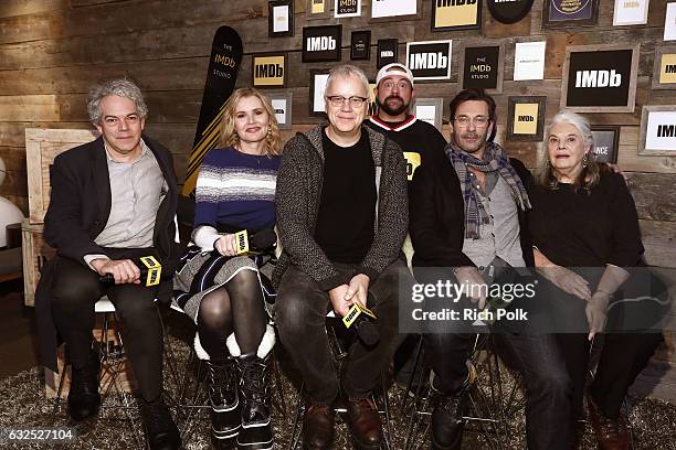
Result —
<path fill-rule="evenodd" d="M 561 108 L 578 113 L 633 113 L 640 46 L 567 47 Z"/>

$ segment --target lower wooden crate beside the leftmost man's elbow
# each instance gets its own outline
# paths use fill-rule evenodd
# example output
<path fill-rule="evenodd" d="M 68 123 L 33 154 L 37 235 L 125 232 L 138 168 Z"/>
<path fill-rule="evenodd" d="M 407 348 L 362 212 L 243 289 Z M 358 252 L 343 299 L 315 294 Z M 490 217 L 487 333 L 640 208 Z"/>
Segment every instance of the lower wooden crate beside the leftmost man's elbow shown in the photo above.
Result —
<path fill-rule="evenodd" d="M 56 253 L 42 239 L 42 224 L 31 224 L 29 218 L 21 223 L 23 255 L 23 303 L 35 306 L 35 288 L 40 280 L 40 269 Z"/>

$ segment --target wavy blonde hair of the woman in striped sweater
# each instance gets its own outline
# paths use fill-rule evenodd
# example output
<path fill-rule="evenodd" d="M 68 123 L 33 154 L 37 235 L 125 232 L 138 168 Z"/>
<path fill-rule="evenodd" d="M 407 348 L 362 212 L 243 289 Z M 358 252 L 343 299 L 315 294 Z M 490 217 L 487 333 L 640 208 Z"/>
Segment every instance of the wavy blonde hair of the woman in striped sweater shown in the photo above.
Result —
<path fill-rule="evenodd" d="M 223 119 L 221 120 L 221 139 L 219 140 L 220 147 L 234 147 L 240 143 L 240 137 L 235 128 L 235 115 L 237 104 L 242 98 L 256 97 L 263 104 L 263 108 L 268 116 L 268 128 L 267 136 L 265 137 L 265 154 L 278 156 L 282 154 L 282 138 L 279 136 L 279 126 L 277 125 L 277 118 L 275 111 L 270 103 L 270 99 L 261 93 L 258 89 L 253 87 L 243 87 L 230 96 L 225 106 L 223 107 Z"/>

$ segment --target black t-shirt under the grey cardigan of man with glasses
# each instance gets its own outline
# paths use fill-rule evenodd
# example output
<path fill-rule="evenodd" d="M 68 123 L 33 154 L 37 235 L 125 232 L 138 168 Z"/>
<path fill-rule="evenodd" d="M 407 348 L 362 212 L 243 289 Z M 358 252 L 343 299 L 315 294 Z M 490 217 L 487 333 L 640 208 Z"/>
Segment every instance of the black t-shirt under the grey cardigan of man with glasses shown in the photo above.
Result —
<path fill-rule="evenodd" d="M 351 147 L 339 147 L 323 133 L 324 183 L 315 240 L 335 262 L 359 264 L 376 226 L 376 165 L 365 131 Z"/>

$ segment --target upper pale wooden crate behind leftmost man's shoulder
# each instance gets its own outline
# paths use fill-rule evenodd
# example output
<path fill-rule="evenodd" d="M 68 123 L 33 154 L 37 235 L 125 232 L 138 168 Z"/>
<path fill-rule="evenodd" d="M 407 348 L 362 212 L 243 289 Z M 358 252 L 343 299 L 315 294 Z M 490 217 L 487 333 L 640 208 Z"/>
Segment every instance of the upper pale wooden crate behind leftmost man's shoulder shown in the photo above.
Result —
<path fill-rule="evenodd" d="M 31 224 L 44 222 L 50 204 L 50 168 L 65 150 L 96 139 L 94 130 L 25 129 L 25 167 Z"/>

